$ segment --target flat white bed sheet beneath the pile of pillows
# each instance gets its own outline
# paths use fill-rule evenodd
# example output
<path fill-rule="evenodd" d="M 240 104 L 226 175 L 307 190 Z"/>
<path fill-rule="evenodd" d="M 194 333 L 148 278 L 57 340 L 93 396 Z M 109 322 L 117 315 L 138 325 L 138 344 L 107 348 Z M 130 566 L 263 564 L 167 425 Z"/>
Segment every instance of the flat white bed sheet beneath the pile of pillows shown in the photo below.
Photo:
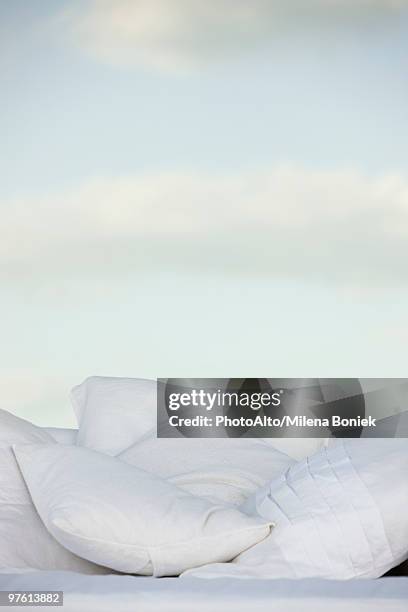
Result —
<path fill-rule="evenodd" d="M 0 574 L 0 590 L 63 590 L 62 612 L 407 612 L 408 578 L 332 581 Z"/>

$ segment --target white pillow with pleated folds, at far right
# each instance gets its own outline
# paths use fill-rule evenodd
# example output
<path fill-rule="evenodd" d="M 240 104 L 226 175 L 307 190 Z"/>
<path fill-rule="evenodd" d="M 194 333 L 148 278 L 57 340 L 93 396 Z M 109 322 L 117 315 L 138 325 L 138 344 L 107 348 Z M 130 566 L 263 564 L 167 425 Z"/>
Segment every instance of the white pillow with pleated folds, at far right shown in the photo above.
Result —
<path fill-rule="evenodd" d="M 186 575 L 377 578 L 408 557 L 408 440 L 339 440 L 245 504 L 276 524 L 233 563 Z"/>

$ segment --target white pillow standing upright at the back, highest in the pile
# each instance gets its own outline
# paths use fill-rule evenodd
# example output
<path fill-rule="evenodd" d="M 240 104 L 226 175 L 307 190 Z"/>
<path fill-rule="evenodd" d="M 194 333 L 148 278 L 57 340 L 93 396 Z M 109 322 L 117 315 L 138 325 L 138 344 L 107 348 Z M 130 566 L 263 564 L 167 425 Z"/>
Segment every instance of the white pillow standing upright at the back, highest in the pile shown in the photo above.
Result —
<path fill-rule="evenodd" d="M 156 435 L 156 381 L 91 376 L 71 391 L 79 425 L 77 444 L 117 455 Z"/>

